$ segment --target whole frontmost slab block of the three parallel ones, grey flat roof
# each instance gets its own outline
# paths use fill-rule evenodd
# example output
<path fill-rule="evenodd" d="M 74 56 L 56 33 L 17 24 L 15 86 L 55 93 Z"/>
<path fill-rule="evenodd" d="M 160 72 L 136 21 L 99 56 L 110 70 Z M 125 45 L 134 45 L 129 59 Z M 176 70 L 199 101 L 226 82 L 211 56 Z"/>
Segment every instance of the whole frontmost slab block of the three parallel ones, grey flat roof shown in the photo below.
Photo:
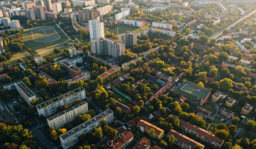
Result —
<path fill-rule="evenodd" d="M 84 133 L 87 134 L 93 131 L 95 127 L 102 126 L 102 120 L 106 120 L 106 124 L 110 124 L 114 121 L 114 112 L 110 109 L 103 111 L 101 114 L 91 118 L 89 121 L 85 121 L 79 126 L 71 129 L 70 131 L 64 133 L 60 136 L 61 146 L 66 149 L 78 143 L 79 136 Z"/>

